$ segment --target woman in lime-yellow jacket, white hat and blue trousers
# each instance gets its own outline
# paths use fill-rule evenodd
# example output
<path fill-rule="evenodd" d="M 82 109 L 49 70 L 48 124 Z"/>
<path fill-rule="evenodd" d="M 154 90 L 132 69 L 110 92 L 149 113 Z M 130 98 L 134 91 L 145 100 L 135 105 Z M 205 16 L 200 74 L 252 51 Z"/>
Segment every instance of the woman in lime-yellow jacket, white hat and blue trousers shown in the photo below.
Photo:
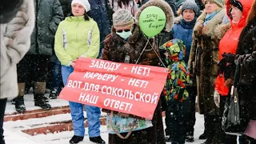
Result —
<path fill-rule="evenodd" d="M 99 53 L 98 25 L 86 14 L 90 10 L 88 0 L 73 0 L 72 16 L 67 17 L 58 26 L 55 35 L 54 50 L 62 63 L 62 80 L 66 85 L 67 78 L 74 71 L 77 58 L 97 58 Z M 89 137 L 91 142 L 105 143 L 100 136 L 99 117 L 101 110 L 94 106 L 85 106 L 88 118 Z M 85 134 L 83 105 L 70 102 L 70 113 L 74 127 L 74 136 L 70 143 L 83 140 Z"/>

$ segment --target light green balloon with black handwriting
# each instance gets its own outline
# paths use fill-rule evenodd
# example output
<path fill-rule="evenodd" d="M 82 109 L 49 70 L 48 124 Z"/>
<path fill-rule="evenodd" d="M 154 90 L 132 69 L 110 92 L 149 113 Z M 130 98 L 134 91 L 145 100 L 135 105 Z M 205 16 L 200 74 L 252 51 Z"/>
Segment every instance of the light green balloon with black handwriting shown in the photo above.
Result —
<path fill-rule="evenodd" d="M 149 6 L 142 10 L 138 23 L 142 32 L 151 38 L 165 28 L 166 14 L 158 6 Z"/>

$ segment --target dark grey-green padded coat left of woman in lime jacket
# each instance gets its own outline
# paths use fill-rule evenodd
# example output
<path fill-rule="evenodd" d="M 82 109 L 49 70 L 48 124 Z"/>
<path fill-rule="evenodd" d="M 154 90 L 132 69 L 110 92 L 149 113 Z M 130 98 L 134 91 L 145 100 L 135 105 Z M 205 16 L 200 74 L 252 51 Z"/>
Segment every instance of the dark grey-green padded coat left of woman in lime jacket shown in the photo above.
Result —
<path fill-rule="evenodd" d="M 27 54 L 52 55 L 54 35 L 62 22 L 62 6 L 58 0 L 34 0 L 36 23 L 31 35 L 31 46 Z"/>

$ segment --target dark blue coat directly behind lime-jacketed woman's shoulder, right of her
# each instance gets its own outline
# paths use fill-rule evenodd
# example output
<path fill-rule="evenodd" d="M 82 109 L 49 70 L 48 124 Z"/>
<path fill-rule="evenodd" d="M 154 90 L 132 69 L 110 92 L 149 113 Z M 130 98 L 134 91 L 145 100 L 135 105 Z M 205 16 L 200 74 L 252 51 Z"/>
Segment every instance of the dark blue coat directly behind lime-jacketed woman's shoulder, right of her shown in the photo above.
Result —
<path fill-rule="evenodd" d="M 100 42 L 102 43 L 101 49 L 104 47 L 104 39 L 111 32 L 110 19 L 106 11 L 106 0 L 89 0 L 90 11 L 88 15 L 93 18 L 98 24 L 98 30 L 100 32 Z M 102 51 L 102 50 L 101 50 Z M 99 56 L 101 55 L 101 51 Z"/>

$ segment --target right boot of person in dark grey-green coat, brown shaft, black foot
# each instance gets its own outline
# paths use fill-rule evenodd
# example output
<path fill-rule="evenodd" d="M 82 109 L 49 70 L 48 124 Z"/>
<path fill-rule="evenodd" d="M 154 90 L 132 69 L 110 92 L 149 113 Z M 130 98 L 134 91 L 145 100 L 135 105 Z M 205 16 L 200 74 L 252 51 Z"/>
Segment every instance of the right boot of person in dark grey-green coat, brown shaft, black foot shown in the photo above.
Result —
<path fill-rule="evenodd" d="M 50 104 L 44 98 L 46 92 L 46 82 L 34 82 L 34 106 L 40 106 L 42 109 L 49 110 Z"/>

